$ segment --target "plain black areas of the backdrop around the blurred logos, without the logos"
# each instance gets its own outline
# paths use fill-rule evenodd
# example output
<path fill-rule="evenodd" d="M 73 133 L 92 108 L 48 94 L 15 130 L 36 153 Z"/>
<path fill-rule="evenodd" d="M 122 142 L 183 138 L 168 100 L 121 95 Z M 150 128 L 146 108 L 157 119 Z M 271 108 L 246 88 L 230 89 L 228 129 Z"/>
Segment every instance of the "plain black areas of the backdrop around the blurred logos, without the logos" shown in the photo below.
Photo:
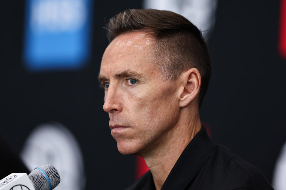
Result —
<path fill-rule="evenodd" d="M 277 50 L 279 3 L 218 2 L 208 42 L 213 72 L 200 110 L 212 139 L 254 164 L 270 182 L 286 140 L 286 59 Z M 57 121 L 80 143 L 86 189 L 124 189 L 134 181 L 135 157 L 117 151 L 108 115 L 102 110 L 97 75 L 108 45 L 105 22 L 122 10 L 141 7 L 141 1 L 94 1 L 92 55 L 86 66 L 76 71 L 30 73 L 22 61 L 24 1 L 1 2 L 0 131 L 16 152 L 35 126 Z"/>

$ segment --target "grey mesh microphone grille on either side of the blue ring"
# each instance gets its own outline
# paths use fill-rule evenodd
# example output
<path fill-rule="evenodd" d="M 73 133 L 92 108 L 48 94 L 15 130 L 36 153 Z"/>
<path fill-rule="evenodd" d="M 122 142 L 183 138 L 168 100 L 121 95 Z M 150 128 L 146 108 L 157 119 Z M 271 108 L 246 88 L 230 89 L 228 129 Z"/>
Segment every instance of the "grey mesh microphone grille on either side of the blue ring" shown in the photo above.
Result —
<path fill-rule="evenodd" d="M 52 189 L 54 189 L 60 183 L 59 172 L 51 164 L 46 164 L 40 167 L 48 176 Z M 49 190 L 49 182 L 45 175 L 38 169 L 33 170 L 29 175 L 30 180 L 34 183 L 36 190 Z"/>

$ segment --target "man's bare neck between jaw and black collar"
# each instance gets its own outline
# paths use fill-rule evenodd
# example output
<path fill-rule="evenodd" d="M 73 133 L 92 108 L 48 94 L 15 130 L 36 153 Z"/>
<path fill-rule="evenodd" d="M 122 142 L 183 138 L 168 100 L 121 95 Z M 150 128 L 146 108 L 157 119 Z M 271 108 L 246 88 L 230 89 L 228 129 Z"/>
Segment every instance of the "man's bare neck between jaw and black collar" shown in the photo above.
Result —
<path fill-rule="evenodd" d="M 181 110 L 181 113 L 185 111 Z M 197 114 L 194 115 L 194 113 Z M 190 115 L 192 116 L 190 117 Z M 143 156 L 153 175 L 156 190 L 161 189 L 181 153 L 200 129 L 198 110 L 180 114 L 177 124 L 162 137 L 164 138 L 161 140 L 163 143 L 160 143 L 160 146 L 155 148 L 152 153 Z"/>

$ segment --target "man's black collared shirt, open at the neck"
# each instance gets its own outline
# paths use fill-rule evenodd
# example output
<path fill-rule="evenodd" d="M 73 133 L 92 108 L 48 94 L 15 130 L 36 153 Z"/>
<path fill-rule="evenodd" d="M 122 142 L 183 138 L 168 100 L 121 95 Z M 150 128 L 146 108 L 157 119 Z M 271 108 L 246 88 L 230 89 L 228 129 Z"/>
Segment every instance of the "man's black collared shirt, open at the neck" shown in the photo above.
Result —
<path fill-rule="evenodd" d="M 210 140 L 205 127 L 187 145 L 161 190 L 273 189 L 253 165 Z M 127 190 L 156 190 L 150 171 Z"/>

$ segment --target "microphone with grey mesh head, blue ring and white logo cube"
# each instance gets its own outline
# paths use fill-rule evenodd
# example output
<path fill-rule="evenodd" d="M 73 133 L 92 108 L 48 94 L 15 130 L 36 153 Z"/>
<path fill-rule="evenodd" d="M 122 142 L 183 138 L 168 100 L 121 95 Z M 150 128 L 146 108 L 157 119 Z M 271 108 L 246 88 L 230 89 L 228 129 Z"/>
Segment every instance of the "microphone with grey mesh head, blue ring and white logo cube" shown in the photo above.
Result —
<path fill-rule="evenodd" d="M 11 173 L 0 180 L 0 190 L 52 190 L 60 183 L 60 175 L 51 164 L 36 167 L 29 175 Z"/>

